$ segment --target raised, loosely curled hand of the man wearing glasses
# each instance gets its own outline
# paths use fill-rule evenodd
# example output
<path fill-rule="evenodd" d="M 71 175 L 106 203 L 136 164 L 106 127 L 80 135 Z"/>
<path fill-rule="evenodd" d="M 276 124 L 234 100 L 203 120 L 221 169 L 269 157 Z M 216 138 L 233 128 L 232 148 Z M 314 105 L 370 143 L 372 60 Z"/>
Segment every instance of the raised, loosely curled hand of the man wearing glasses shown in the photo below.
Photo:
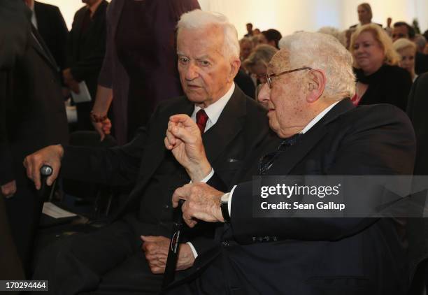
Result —
<path fill-rule="evenodd" d="M 211 172 L 201 131 L 188 115 L 173 115 L 166 130 L 165 147 L 187 171 L 192 181 L 201 181 Z"/>

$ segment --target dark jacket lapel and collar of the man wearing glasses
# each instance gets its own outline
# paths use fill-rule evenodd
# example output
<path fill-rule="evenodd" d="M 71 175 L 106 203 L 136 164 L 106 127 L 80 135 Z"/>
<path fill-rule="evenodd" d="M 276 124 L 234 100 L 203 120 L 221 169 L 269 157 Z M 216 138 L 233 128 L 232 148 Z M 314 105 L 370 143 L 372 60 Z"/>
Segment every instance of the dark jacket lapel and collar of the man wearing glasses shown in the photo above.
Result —
<path fill-rule="evenodd" d="M 334 106 L 324 117 L 321 118 L 306 134 L 301 136 L 301 139 L 296 145 L 292 145 L 280 157 L 273 162 L 272 168 L 268 173 L 271 175 L 280 174 L 288 175 L 294 166 L 301 159 L 304 159 L 306 154 L 320 141 L 328 131 L 328 124 L 337 117 L 354 108 L 350 99 L 343 99 Z M 278 172 L 276 172 L 278 171 Z"/>

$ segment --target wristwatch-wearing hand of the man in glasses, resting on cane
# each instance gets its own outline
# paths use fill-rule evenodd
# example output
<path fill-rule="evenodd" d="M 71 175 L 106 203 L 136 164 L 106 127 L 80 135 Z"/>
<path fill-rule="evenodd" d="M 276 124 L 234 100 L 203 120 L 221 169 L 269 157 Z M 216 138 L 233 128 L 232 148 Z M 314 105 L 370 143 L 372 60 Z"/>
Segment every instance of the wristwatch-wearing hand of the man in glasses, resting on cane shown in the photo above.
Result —
<path fill-rule="evenodd" d="M 191 183 L 179 187 L 173 194 L 173 207 L 178 206 L 180 199 L 185 200 L 181 210 L 183 220 L 190 227 L 197 224 L 197 220 L 205 222 L 224 222 L 220 208 L 221 197 L 224 193 L 210 187 L 204 182 Z"/>

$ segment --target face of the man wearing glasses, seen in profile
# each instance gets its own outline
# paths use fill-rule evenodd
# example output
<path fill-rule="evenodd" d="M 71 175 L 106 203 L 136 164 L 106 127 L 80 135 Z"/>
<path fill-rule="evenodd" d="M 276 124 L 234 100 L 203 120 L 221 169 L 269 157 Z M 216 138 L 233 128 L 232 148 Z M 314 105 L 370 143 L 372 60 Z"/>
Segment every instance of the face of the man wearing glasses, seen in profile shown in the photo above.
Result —
<path fill-rule="evenodd" d="M 276 53 L 268 66 L 268 73 L 281 73 L 291 70 L 289 53 L 283 49 Z M 303 65 L 302 65 L 303 66 Z M 287 73 L 272 79 L 270 96 L 265 101 L 269 110 L 269 126 L 280 138 L 287 138 L 301 131 L 308 122 L 305 113 L 304 82 L 301 80 L 305 73 L 301 71 Z M 262 98 L 263 98 L 262 97 Z M 259 96 L 260 98 L 260 96 Z"/>

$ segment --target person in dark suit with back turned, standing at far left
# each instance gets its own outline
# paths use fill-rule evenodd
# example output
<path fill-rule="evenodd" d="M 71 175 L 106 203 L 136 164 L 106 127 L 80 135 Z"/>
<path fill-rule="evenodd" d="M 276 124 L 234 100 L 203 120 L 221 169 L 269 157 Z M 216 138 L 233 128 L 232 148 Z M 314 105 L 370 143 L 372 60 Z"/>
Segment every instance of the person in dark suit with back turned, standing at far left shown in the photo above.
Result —
<path fill-rule="evenodd" d="M 27 276 L 30 275 L 33 243 L 43 199 L 27 178 L 24 157 L 49 144 L 68 143 L 68 125 L 58 65 L 48 46 L 31 24 L 28 46 L 6 74 L 4 126 L 6 143 L 1 157 L 5 173 L 1 183 L 12 183 L 6 213 L 10 231 Z M 30 184 L 30 185 L 29 185 Z"/>

